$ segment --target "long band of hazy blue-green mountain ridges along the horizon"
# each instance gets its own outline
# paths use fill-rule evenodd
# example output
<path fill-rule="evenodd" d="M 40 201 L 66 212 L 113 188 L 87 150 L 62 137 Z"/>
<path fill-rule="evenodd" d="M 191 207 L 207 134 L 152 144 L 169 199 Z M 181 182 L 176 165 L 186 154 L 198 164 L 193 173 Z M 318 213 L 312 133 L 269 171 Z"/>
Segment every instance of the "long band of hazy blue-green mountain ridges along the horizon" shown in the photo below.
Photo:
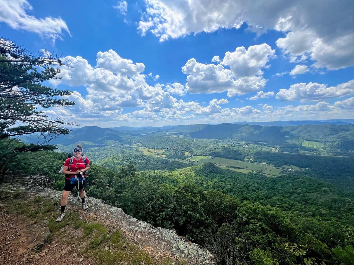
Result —
<path fill-rule="evenodd" d="M 151 128 L 141 128 L 138 130 L 115 130 L 113 128 L 100 128 L 97 126 L 85 126 L 77 128 L 69 135 L 61 135 L 51 141 L 53 144 L 64 146 L 81 141 L 95 142 L 95 145 L 104 145 L 106 141 L 112 140 L 120 144 L 132 144 L 141 142 L 139 138 L 149 136 L 184 136 L 194 139 L 216 139 L 226 141 L 247 141 L 262 142 L 268 145 L 279 145 L 284 147 L 301 147 L 311 150 L 314 143 L 303 143 L 303 141 L 319 142 L 325 147 L 331 146 L 344 151 L 352 151 L 354 146 L 354 124 L 335 125 L 298 125 L 298 126 L 260 126 L 241 124 L 196 124 L 163 126 L 154 130 Z M 25 142 L 34 142 L 36 136 L 23 136 Z M 338 152 L 337 152 L 338 153 Z M 343 153 L 343 152 L 342 152 Z"/>

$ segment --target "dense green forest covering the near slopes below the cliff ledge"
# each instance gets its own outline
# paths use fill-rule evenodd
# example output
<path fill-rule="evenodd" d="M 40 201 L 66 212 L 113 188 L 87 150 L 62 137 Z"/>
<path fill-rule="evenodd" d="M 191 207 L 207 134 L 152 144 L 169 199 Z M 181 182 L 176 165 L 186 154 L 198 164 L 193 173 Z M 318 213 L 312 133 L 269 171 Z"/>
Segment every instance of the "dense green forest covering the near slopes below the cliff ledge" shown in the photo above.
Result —
<path fill-rule="evenodd" d="M 64 177 L 57 170 L 65 158 L 58 152 L 23 153 L 16 170 L 42 173 L 61 190 Z M 138 172 L 133 164 L 109 170 L 92 163 L 89 183 L 89 196 L 176 229 L 223 264 L 352 264 L 344 260 L 353 255 L 354 198 L 320 179 L 269 178 L 212 163 Z"/>

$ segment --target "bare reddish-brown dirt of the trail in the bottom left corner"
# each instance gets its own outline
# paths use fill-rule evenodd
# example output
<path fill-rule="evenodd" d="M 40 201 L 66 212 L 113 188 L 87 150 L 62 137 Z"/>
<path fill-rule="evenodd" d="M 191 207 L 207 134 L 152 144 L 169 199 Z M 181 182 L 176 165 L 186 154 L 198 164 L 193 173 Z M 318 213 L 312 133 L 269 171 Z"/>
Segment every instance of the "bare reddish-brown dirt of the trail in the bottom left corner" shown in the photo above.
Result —
<path fill-rule="evenodd" d="M 24 216 L 11 213 L 5 210 L 6 204 L 1 204 L 0 218 L 0 264 L 95 264 L 93 258 L 86 258 L 78 255 L 78 249 L 82 245 L 82 240 L 77 240 L 80 230 L 70 230 L 69 227 L 63 228 L 61 235 L 55 235 L 52 242 L 45 242 L 38 249 L 31 248 L 33 241 L 38 238 L 33 237 L 31 231 L 26 228 L 33 225 L 33 221 Z M 82 231 L 81 231 L 82 233 Z M 74 245 L 75 243 L 78 245 Z M 29 248 L 28 248 L 29 247 Z"/>

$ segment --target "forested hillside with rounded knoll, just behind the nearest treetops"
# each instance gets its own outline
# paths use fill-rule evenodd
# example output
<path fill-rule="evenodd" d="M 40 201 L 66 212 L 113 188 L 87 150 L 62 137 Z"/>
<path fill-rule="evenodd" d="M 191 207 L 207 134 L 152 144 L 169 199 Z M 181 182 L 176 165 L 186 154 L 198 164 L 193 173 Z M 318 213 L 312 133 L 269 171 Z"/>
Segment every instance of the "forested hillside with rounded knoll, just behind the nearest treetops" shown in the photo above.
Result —
<path fill-rule="evenodd" d="M 159 179 L 161 183 L 193 183 L 206 190 L 218 190 L 242 201 L 259 202 L 284 211 L 318 216 L 322 220 L 354 223 L 354 198 L 324 181 L 289 174 L 266 177 L 220 169 L 204 163 L 174 171 L 142 171 L 138 176 Z M 325 196 L 324 196 L 325 194 Z"/>

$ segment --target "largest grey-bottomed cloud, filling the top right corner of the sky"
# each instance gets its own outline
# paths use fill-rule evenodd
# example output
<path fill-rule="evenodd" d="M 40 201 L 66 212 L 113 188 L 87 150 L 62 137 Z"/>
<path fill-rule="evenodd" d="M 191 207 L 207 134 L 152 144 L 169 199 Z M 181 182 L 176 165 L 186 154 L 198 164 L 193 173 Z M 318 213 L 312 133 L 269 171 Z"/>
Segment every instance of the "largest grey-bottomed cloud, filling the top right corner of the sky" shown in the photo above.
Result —
<path fill-rule="evenodd" d="M 329 70 L 354 65 L 353 1 L 201 1 L 145 0 L 138 31 L 160 41 L 218 29 L 268 30 L 284 33 L 276 41 L 293 62 L 312 59 Z M 315 12 L 314 12 L 315 10 Z"/>

